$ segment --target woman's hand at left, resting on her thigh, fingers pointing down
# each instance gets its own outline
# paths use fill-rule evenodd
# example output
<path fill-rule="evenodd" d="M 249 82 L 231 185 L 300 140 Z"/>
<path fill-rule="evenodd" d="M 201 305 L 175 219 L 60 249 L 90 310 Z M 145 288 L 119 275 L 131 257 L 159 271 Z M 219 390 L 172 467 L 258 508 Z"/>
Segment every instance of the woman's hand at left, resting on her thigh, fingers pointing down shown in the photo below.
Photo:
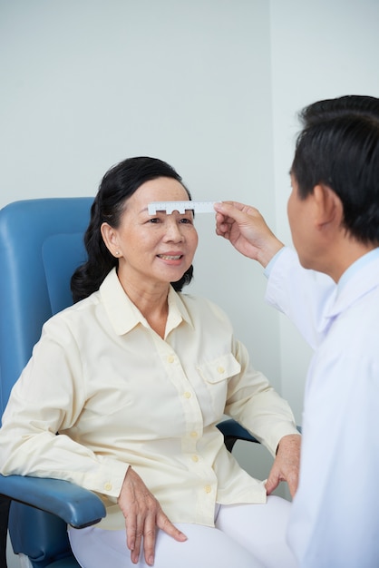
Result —
<path fill-rule="evenodd" d="M 146 563 L 150 566 L 154 563 L 157 528 L 177 541 L 187 540 L 187 536 L 170 523 L 157 499 L 131 467 L 126 472 L 118 504 L 125 517 L 126 544 L 131 550 L 132 563 L 139 561 L 142 541 Z"/>

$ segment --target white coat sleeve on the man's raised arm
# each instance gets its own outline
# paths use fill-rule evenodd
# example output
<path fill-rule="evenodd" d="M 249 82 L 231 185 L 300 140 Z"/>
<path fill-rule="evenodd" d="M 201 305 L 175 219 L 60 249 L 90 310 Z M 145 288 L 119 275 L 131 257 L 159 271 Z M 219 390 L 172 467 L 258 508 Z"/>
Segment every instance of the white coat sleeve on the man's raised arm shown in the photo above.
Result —
<path fill-rule="evenodd" d="M 286 314 L 315 349 L 326 336 L 335 282 L 326 274 L 304 269 L 296 252 L 287 247 L 279 250 L 267 268 L 267 304 Z"/>

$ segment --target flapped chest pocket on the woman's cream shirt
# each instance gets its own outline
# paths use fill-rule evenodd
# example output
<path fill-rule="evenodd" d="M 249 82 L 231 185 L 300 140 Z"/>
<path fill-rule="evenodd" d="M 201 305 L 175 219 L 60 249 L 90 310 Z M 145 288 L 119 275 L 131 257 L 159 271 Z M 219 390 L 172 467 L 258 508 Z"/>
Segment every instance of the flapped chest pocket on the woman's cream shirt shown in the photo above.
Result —
<path fill-rule="evenodd" d="M 241 366 L 231 353 L 221 355 L 197 366 L 210 397 L 210 404 L 215 413 L 213 419 L 219 419 L 225 409 L 228 397 L 228 378 L 238 375 Z"/>

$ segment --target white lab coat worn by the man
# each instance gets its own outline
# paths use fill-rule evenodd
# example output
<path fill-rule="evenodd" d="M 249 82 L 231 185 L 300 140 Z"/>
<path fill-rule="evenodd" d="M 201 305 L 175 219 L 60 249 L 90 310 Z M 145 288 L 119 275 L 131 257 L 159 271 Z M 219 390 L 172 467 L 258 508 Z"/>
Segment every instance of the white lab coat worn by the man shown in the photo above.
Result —
<path fill-rule="evenodd" d="M 283 250 L 266 299 L 316 349 L 289 543 L 301 568 L 378 568 L 379 249 L 338 286 Z"/>

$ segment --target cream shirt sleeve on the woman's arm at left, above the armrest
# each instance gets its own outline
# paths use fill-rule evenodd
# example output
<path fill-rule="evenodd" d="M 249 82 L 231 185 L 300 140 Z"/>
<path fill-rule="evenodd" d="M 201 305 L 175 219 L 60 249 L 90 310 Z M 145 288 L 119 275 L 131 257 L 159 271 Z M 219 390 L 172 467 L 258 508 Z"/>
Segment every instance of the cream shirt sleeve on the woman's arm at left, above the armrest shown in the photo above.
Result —
<path fill-rule="evenodd" d="M 5 408 L 1 473 L 64 479 L 117 497 L 129 465 L 75 441 L 75 422 L 86 397 L 82 360 L 67 328 L 49 328 L 59 333 L 44 328 Z M 57 435 L 69 429 L 73 436 Z"/>

